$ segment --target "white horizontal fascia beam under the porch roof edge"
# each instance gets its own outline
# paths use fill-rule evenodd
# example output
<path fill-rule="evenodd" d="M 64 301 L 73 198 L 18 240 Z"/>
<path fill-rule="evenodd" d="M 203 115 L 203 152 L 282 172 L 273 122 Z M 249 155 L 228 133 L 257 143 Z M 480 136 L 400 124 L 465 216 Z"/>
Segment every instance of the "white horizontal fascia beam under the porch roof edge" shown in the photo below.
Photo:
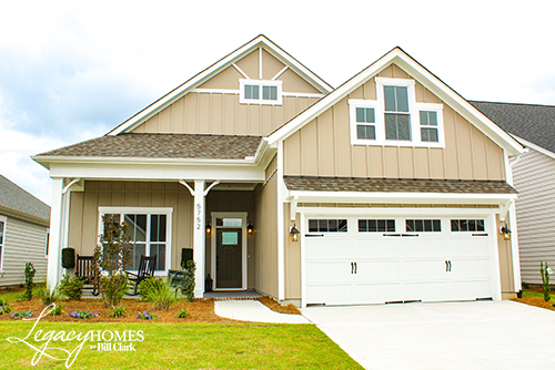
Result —
<path fill-rule="evenodd" d="M 80 177 L 97 179 L 179 181 L 218 179 L 258 182 L 265 179 L 261 166 L 183 165 L 161 163 L 56 163 L 50 166 L 51 177 Z"/>

